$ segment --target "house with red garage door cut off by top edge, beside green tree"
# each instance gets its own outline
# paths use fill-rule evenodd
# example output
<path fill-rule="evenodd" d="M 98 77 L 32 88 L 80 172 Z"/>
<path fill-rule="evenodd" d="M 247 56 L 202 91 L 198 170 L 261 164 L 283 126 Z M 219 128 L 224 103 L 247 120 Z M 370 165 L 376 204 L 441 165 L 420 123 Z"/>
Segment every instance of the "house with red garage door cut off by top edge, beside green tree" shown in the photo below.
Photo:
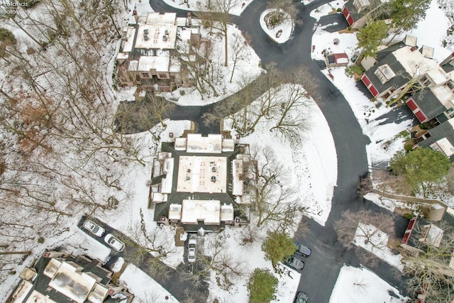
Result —
<path fill-rule="evenodd" d="M 387 6 L 388 0 L 349 0 L 342 7 L 342 14 L 351 28 L 363 28 L 370 22 L 372 14 L 378 20 L 390 23 L 387 16 L 382 13 L 383 6 Z"/>

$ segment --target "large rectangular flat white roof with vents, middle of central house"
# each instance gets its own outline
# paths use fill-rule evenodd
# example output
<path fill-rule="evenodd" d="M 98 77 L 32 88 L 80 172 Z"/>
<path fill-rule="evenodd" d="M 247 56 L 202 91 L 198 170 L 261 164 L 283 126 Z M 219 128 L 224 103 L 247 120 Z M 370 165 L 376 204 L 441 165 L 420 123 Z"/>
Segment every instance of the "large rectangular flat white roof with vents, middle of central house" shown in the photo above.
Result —
<path fill-rule="evenodd" d="M 180 156 L 177 192 L 226 192 L 227 158 Z"/>

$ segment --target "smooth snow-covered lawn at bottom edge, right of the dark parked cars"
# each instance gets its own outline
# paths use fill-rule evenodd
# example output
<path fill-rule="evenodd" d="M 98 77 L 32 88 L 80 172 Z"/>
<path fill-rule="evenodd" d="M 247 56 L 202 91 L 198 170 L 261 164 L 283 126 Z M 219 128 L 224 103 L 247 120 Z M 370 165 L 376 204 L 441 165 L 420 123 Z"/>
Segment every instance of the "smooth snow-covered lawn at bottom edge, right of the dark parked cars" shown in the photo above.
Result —
<path fill-rule="evenodd" d="M 398 303 L 406 302 L 392 287 L 367 268 L 344 265 L 339 272 L 329 303 Z"/>

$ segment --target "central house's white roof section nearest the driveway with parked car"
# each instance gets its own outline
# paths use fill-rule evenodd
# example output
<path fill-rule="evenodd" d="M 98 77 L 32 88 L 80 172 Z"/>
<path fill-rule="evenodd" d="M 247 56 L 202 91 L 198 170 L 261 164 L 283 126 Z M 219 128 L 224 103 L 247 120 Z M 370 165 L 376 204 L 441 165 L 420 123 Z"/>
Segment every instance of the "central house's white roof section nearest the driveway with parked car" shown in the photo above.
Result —
<path fill-rule="evenodd" d="M 218 200 L 183 200 L 182 223 L 197 224 L 197 221 L 204 221 L 204 224 L 221 223 L 221 202 Z"/>

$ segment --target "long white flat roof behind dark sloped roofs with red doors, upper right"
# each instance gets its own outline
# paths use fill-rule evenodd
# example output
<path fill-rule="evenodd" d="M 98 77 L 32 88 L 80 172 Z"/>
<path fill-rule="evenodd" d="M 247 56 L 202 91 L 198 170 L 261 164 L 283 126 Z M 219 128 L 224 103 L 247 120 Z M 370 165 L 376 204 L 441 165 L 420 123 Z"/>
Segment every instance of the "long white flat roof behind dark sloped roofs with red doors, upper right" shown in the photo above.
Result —
<path fill-rule="evenodd" d="M 399 48 L 393 54 L 411 76 L 427 73 L 435 84 L 442 84 L 450 79 L 435 60 L 424 57 L 418 50 L 411 51 L 409 46 Z"/>

